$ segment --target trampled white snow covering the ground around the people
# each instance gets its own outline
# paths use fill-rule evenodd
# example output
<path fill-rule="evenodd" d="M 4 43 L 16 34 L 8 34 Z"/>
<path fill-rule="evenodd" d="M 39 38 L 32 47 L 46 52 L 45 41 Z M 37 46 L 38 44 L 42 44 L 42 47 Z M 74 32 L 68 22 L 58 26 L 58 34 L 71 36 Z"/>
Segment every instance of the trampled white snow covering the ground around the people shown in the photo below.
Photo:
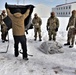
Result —
<path fill-rule="evenodd" d="M 12 31 L 9 31 L 9 50 L 0 53 L 0 75 L 76 75 L 76 46 L 69 48 L 64 46 L 67 40 L 66 26 L 69 18 L 59 17 L 60 27 L 57 33 L 57 42 L 63 47 L 64 53 L 44 54 L 39 50 L 40 45 L 48 41 L 46 30 L 47 18 L 42 18 L 42 41 L 34 41 L 34 30 L 29 30 L 27 37 L 29 60 L 22 59 L 22 55 L 14 57 L 14 41 Z M 0 51 L 5 51 L 8 42 L 0 40 Z M 19 49 L 21 46 L 19 44 Z"/>

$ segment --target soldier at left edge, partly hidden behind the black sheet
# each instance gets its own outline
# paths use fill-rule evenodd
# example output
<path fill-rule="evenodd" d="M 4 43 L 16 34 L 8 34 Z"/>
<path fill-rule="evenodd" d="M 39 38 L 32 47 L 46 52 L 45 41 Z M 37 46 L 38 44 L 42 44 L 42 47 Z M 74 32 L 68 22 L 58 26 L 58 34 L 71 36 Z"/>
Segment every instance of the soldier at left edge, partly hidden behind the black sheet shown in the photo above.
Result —
<path fill-rule="evenodd" d="M 7 39 L 6 39 L 6 36 L 7 36 L 7 34 L 8 34 L 8 30 L 7 30 L 7 26 L 6 26 L 6 24 L 4 23 L 4 21 L 3 21 L 3 19 L 6 17 L 7 15 L 5 14 L 5 10 L 3 10 L 2 11 L 2 13 L 1 13 L 1 18 L 2 18 L 2 20 L 1 20 L 1 32 L 2 32 L 2 34 L 1 34 L 1 39 L 2 39 L 2 42 L 4 43 L 5 41 L 8 41 Z"/>

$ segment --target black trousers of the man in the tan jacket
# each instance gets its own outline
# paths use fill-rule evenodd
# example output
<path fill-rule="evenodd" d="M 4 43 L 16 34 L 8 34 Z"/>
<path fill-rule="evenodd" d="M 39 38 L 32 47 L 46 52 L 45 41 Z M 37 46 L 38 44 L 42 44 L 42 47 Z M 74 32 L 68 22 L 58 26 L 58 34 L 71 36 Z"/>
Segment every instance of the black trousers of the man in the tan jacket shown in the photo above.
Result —
<path fill-rule="evenodd" d="M 14 37 L 14 48 L 15 52 L 18 53 L 18 44 L 21 43 L 23 50 L 23 58 L 27 58 L 27 44 L 25 35 L 22 36 L 13 36 Z"/>

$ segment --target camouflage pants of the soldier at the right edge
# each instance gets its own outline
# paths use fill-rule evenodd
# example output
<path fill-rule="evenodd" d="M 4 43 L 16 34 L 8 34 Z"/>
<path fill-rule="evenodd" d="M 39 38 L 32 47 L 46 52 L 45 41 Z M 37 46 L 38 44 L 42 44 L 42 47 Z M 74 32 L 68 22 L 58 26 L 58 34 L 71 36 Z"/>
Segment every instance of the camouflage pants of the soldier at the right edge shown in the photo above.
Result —
<path fill-rule="evenodd" d="M 75 41 L 74 28 L 71 28 L 68 31 L 67 42 L 70 43 L 71 45 L 74 45 L 74 41 Z"/>

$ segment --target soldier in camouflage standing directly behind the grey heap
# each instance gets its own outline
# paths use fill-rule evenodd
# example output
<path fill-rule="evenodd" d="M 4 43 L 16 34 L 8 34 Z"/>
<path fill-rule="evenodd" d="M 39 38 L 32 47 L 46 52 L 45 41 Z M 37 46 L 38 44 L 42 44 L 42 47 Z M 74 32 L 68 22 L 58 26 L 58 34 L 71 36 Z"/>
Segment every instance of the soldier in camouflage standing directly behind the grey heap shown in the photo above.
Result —
<path fill-rule="evenodd" d="M 56 40 L 56 33 L 59 28 L 59 20 L 55 17 L 55 13 L 51 12 L 51 16 L 47 20 L 47 31 L 49 35 L 49 40 Z"/>

